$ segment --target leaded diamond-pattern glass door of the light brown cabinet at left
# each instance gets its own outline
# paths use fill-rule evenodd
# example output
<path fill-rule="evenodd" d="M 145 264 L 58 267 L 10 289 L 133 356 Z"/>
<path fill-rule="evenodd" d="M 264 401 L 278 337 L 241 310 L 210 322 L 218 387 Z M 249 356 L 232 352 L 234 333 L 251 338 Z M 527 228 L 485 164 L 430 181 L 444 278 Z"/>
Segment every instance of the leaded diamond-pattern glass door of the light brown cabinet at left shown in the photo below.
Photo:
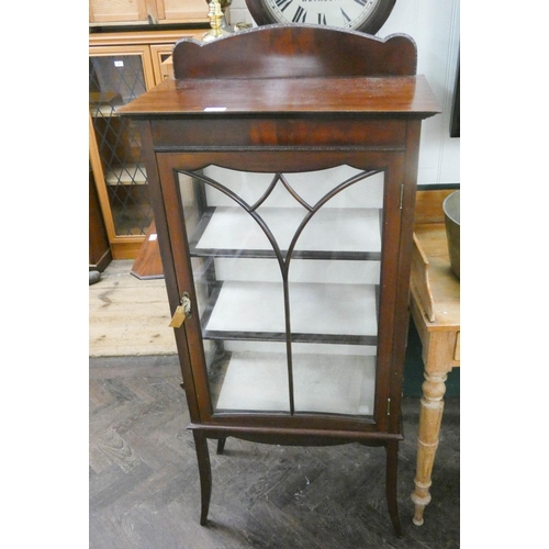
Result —
<path fill-rule="evenodd" d="M 142 55 L 90 55 L 90 112 L 116 236 L 145 235 L 153 221 L 139 134 L 116 114 L 145 90 Z"/>

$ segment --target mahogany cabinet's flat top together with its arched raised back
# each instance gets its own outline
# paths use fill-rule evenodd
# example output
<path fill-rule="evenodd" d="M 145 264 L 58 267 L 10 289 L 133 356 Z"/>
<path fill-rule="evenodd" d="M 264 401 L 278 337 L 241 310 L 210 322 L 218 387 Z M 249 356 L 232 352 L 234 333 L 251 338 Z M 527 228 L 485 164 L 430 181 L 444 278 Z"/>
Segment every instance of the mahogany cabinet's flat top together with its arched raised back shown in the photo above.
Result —
<path fill-rule="evenodd" d="M 175 80 L 119 112 L 415 119 L 440 112 L 426 79 L 416 76 L 416 47 L 406 35 L 380 40 L 329 27 L 271 25 L 205 44 L 181 40 L 173 70 Z"/>

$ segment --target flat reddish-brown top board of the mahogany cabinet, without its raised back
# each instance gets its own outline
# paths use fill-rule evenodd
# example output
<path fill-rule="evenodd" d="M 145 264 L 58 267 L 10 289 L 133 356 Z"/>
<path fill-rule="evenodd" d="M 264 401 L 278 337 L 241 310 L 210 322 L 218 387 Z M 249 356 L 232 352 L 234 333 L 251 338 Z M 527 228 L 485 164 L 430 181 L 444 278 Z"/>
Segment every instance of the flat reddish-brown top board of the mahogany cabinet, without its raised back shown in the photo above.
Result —
<path fill-rule="evenodd" d="M 167 80 L 117 109 L 133 117 L 333 113 L 425 119 L 439 111 L 423 76 Z"/>

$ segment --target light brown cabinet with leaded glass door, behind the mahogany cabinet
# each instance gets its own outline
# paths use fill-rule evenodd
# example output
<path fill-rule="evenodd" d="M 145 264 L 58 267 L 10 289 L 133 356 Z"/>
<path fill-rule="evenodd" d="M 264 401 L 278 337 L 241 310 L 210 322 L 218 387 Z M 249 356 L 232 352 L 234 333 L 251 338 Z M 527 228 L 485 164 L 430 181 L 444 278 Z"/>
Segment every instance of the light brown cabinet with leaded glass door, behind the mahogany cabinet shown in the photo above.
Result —
<path fill-rule="evenodd" d="M 163 64 L 178 40 L 204 32 L 90 34 L 90 165 L 113 259 L 134 259 L 153 222 L 141 139 L 117 108 L 169 76 Z"/>

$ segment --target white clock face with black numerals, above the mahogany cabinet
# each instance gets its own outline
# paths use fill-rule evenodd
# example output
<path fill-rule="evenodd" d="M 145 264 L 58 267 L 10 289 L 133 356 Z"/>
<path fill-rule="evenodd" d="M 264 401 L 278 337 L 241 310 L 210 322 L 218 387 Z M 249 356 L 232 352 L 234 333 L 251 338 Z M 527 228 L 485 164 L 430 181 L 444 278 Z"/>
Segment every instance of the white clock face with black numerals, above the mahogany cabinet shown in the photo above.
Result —
<path fill-rule="evenodd" d="M 374 33 L 395 0 L 246 0 L 257 24 L 306 23 Z"/>

